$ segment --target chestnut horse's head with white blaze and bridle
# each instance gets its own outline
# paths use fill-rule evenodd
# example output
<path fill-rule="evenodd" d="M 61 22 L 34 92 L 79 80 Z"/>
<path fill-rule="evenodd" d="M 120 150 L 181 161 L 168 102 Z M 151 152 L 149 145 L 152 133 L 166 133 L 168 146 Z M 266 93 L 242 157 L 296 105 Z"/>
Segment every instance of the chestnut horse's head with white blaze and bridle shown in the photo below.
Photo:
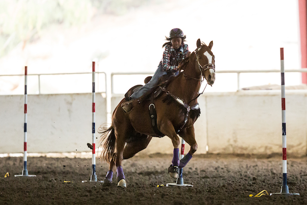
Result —
<path fill-rule="evenodd" d="M 195 68 L 199 69 L 201 75 L 207 80 L 207 83 L 212 86 L 215 81 L 215 61 L 214 55 L 211 51 L 213 41 L 207 46 L 205 43 L 200 42 L 198 38 L 195 50 Z"/>

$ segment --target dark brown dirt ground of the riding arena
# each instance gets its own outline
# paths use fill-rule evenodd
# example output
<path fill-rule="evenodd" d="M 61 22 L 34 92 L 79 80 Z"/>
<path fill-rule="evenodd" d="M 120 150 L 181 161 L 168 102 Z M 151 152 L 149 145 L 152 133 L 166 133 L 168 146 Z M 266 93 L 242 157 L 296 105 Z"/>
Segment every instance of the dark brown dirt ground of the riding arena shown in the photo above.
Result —
<path fill-rule="evenodd" d="M 87 158 L 28 157 L 29 174 L 36 177 L 14 177 L 22 172 L 22 157 L 0 158 L 0 205 L 307 204 L 307 157 L 288 156 L 289 189 L 300 196 L 259 198 L 249 195 L 264 189 L 280 191 L 281 156 L 195 155 L 184 168 L 185 183 L 193 187 L 170 188 L 166 184 L 174 182 L 167 175 L 171 157 L 154 154 L 125 160 L 126 189 L 82 183 L 91 172 Z M 107 168 L 97 160 L 98 180 L 103 180 Z M 4 177 L 7 172 L 10 177 Z"/>

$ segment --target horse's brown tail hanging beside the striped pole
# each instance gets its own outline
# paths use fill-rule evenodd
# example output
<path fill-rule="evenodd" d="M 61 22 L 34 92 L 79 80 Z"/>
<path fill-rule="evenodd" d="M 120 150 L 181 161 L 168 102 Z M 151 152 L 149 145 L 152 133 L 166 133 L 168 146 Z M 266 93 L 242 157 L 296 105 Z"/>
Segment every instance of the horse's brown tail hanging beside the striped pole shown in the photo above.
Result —
<path fill-rule="evenodd" d="M 101 126 L 98 129 L 98 133 L 102 134 L 99 145 L 102 145 L 103 151 L 100 154 L 100 158 L 110 163 L 111 160 L 115 160 L 116 156 L 114 151 L 116 146 L 114 127 L 113 125 L 109 128 Z"/>

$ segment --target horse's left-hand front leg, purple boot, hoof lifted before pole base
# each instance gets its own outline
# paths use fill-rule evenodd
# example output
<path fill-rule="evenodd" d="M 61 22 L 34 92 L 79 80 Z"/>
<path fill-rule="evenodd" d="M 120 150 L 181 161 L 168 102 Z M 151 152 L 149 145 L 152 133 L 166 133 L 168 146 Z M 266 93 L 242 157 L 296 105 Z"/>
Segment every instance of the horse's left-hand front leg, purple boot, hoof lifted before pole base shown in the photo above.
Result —
<path fill-rule="evenodd" d="M 173 150 L 173 159 L 171 161 L 171 165 L 168 167 L 168 174 L 170 177 L 177 178 L 178 177 L 178 171 L 179 171 L 179 145 L 180 140 L 176 134 L 175 128 L 173 127 L 172 123 L 170 121 L 165 121 L 164 123 L 161 123 L 160 130 L 162 133 L 167 135 L 174 146 Z"/>

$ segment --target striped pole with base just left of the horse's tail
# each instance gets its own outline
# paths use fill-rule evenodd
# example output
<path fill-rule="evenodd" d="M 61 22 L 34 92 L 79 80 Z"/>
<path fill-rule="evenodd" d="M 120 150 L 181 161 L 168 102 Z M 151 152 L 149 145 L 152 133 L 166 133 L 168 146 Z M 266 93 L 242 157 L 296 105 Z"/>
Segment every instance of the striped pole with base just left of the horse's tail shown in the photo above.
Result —
<path fill-rule="evenodd" d="M 87 182 L 87 181 L 82 181 Z M 103 182 L 97 180 L 95 153 L 95 62 L 92 62 L 92 174 L 88 182 Z"/>

